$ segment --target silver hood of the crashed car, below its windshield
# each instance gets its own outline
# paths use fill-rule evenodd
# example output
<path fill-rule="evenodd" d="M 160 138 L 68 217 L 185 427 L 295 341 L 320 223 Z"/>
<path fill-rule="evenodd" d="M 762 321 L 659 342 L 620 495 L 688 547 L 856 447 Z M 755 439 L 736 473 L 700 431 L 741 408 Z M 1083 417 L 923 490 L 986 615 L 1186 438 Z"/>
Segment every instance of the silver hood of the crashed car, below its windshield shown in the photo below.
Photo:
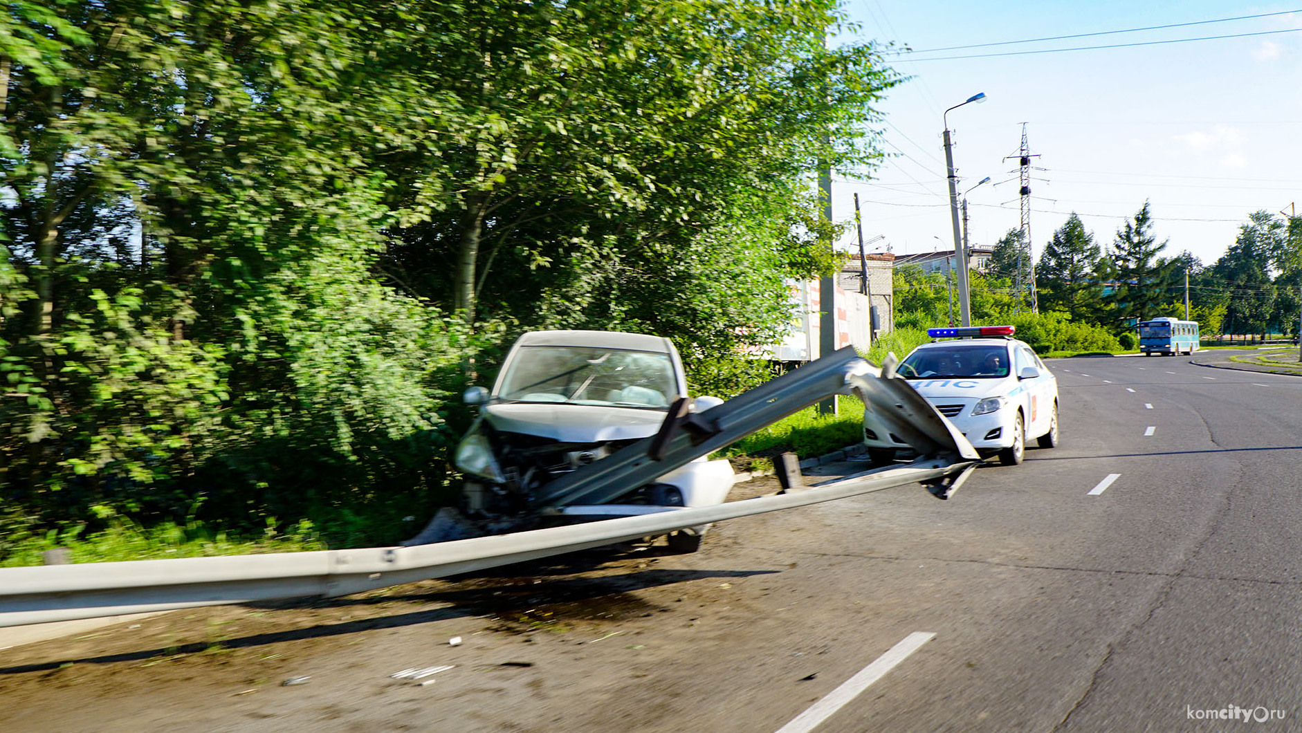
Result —
<path fill-rule="evenodd" d="M 514 402 L 487 405 L 483 415 L 493 430 L 551 437 L 557 443 L 605 443 L 655 435 L 665 411 Z"/>

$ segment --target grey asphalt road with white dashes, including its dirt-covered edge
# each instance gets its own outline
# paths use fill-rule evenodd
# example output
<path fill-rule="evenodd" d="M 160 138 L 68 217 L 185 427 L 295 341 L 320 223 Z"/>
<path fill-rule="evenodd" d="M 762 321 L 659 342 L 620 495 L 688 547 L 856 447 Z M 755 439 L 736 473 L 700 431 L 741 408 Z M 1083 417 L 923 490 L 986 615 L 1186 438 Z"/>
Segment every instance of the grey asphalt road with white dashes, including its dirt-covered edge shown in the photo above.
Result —
<path fill-rule="evenodd" d="M 16 647 L 0 729 L 1302 729 L 1302 379 L 1049 366 L 1061 445 L 949 501 L 897 488 L 732 521 L 691 556 L 596 551 Z"/>

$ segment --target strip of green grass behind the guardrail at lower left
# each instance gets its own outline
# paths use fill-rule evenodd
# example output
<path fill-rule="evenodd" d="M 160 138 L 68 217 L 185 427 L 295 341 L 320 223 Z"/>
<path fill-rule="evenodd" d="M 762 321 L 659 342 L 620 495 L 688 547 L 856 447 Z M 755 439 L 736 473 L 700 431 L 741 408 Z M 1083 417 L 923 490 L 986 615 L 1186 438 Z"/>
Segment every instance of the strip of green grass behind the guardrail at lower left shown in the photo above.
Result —
<path fill-rule="evenodd" d="M 43 565 L 42 553 L 55 548 L 68 548 L 72 562 L 326 549 L 326 544 L 320 542 L 311 522 L 307 521 L 299 522 L 289 534 L 277 534 L 268 522 L 268 529 L 258 538 L 233 538 L 224 531 L 214 531 L 195 519 L 190 519 L 185 525 L 168 522 L 155 527 L 141 527 L 133 522 L 117 519 L 102 531 L 83 535 L 83 530 L 85 527 L 72 527 L 8 543 L 0 547 L 4 552 L 0 568 Z"/>

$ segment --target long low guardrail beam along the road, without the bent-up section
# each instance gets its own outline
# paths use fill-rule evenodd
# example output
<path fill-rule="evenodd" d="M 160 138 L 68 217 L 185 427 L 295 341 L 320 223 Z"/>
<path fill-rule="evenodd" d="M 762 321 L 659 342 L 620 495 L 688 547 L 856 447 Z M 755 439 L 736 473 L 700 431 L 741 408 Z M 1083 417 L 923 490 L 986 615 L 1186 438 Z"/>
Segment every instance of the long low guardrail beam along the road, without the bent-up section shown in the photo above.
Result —
<path fill-rule="evenodd" d="M 910 483 L 961 480 L 975 465 L 918 460 L 797 493 L 414 547 L 4 568 L 0 569 L 0 626 L 348 595 Z"/>

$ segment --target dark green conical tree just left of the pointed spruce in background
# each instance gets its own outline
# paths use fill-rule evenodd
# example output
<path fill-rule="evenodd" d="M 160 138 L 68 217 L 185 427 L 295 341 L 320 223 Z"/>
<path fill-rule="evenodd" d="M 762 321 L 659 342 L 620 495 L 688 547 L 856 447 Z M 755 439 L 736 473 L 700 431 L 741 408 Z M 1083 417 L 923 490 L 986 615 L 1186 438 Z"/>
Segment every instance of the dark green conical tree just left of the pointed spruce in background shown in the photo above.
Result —
<path fill-rule="evenodd" d="M 1074 212 L 1040 254 L 1035 272 L 1040 310 L 1066 312 L 1072 320 L 1094 318 L 1103 301 L 1099 245 Z"/>

